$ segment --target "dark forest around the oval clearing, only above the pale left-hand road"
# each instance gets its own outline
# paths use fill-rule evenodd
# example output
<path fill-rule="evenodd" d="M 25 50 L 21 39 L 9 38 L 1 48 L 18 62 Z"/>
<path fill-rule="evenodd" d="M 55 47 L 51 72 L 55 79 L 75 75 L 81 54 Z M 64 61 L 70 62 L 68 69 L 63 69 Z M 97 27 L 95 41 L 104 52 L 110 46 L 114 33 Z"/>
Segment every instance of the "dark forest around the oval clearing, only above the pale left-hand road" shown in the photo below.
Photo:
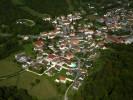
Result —
<path fill-rule="evenodd" d="M 21 9 L 20 5 L 13 4 L 12 0 L 8 0 L 8 2 L 7 0 L 1 0 L 0 15 L 0 31 L 2 33 L 10 33 L 12 35 L 38 34 L 41 31 L 49 31 L 53 29 L 52 24 Z M 16 21 L 19 19 L 33 20 L 36 24 L 33 27 L 25 24 L 16 24 Z"/>

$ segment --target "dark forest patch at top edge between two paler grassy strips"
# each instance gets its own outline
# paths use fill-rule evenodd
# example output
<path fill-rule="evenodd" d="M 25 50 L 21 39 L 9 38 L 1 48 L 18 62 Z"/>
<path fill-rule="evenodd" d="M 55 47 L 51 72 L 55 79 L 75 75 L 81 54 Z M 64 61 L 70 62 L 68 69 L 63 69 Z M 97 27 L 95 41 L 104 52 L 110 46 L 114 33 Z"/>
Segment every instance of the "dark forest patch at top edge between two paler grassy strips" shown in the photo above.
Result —
<path fill-rule="evenodd" d="M 68 5 L 66 0 L 23 0 L 23 1 L 25 5 L 29 6 L 30 8 L 41 13 L 50 14 L 52 16 L 67 14 L 68 12 Z"/>

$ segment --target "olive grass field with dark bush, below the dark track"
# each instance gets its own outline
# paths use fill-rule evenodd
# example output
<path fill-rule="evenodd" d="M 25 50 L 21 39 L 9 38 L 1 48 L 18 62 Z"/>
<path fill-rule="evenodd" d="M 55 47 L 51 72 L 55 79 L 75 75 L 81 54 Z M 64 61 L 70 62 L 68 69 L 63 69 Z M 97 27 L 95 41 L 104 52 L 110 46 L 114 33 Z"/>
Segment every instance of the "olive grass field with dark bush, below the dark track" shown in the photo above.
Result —
<path fill-rule="evenodd" d="M 3 67 L 0 68 L 2 69 Z M 53 81 L 50 82 L 46 76 L 37 76 L 30 72 L 23 72 L 15 77 L 0 81 L 0 86 L 12 85 L 26 89 L 30 95 L 37 97 L 38 100 L 51 100 L 52 98 L 60 100 L 60 94 L 53 85 Z"/>

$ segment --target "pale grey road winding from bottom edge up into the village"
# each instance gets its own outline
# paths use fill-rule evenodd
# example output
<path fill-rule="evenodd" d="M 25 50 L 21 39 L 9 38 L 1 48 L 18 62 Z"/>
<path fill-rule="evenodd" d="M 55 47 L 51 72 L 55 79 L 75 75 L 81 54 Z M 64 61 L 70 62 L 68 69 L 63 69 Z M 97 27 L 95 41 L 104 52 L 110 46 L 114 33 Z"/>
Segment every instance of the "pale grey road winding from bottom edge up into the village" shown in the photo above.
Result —
<path fill-rule="evenodd" d="M 80 69 L 80 59 L 78 57 L 76 57 L 76 59 L 78 60 L 78 69 Z M 70 88 L 73 86 L 73 84 L 76 82 L 77 78 L 79 76 L 79 72 L 77 72 L 77 75 L 74 79 L 74 81 L 69 85 L 69 87 L 67 88 L 66 92 L 65 92 L 65 95 L 64 95 L 64 100 L 68 100 L 68 92 L 70 90 Z"/>

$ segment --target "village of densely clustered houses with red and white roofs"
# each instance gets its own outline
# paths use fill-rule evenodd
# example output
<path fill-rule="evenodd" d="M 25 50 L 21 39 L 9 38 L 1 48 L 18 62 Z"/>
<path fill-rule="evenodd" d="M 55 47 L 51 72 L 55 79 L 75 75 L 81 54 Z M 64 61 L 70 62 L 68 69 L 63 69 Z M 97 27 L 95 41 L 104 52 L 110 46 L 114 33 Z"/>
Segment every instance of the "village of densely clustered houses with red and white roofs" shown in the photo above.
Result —
<path fill-rule="evenodd" d="M 107 43 L 133 42 L 132 11 L 115 9 L 96 19 L 101 26 L 94 23 L 81 25 L 84 20 L 81 13 L 68 14 L 50 21 L 55 29 L 50 32 L 40 32 L 32 43 L 35 58 L 27 56 L 25 52 L 15 55 L 15 59 L 26 71 L 37 75 L 46 74 L 53 77 L 56 83 L 73 83 L 73 89 L 78 90 L 87 70 L 93 68 L 92 61 L 97 57 L 99 49 L 108 49 Z M 94 28 L 95 27 L 95 28 Z M 119 30 L 128 30 L 129 35 L 108 34 Z M 124 32 L 124 31 L 122 31 Z M 130 38 L 129 38 L 130 36 Z M 27 41 L 30 36 L 24 36 Z"/>

